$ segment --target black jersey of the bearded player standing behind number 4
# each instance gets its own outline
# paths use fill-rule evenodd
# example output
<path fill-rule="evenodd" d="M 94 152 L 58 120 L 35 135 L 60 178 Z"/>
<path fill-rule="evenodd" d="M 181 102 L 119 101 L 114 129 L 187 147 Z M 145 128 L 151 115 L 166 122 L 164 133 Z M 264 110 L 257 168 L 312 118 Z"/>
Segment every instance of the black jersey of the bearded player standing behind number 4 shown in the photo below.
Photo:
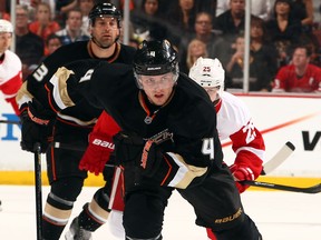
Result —
<path fill-rule="evenodd" d="M 108 59 L 98 59 L 90 49 L 90 41 L 78 41 L 71 44 L 62 46 L 52 54 L 43 60 L 38 68 L 27 78 L 27 92 L 40 101 L 45 107 L 51 108 L 57 112 L 57 119 L 72 126 L 93 127 L 101 109 L 93 108 L 87 101 L 81 101 L 75 107 L 59 111 L 48 101 L 48 96 L 57 94 L 48 88 L 48 82 L 59 67 L 80 59 L 97 59 L 106 62 L 132 63 L 135 49 L 120 43 L 116 44 L 116 50 Z M 54 89 L 55 90 L 55 89 Z M 28 101 L 28 98 L 18 99 L 19 106 Z M 48 103 L 48 106 L 46 106 Z"/>

